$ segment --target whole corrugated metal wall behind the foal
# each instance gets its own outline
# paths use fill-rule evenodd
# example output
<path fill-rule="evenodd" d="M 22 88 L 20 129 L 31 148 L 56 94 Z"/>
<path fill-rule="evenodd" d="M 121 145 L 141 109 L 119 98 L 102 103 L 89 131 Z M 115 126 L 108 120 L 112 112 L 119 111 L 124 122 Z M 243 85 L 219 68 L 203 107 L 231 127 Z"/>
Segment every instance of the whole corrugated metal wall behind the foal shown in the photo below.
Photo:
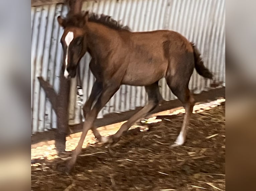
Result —
<path fill-rule="evenodd" d="M 112 16 L 121 20 L 132 31 L 157 29 L 174 30 L 195 42 L 202 53 L 205 65 L 213 71 L 216 83 L 225 84 L 225 1 L 224 0 L 99 0 L 86 1 L 83 10 Z M 58 89 L 58 72 L 62 49 L 59 43 L 62 29 L 56 21 L 58 15 L 66 15 L 67 7 L 50 5 L 31 7 L 31 88 L 32 132 L 56 128 L 56 116 L 49 101 L 39 87 L 36 76 L 43 76 Z M 81 60 L 84 100 L 91 92 L 94 77 L 89 70 L 90 56 Z M 204 80 L 194 71 L 189 88 L 195 93 L 210 88 L 210 80 Z M 164 80 L 161 93 L 166 100 L 175 99 Z M 80 122 L 80 108 L 76 104 L 75 91 L 70 101 L 70 124 Z M 144 105 L 147 96 L 144 87 L 122 86 L 99 113 L 98 118 L 109 112 L 122 112 Z"/>

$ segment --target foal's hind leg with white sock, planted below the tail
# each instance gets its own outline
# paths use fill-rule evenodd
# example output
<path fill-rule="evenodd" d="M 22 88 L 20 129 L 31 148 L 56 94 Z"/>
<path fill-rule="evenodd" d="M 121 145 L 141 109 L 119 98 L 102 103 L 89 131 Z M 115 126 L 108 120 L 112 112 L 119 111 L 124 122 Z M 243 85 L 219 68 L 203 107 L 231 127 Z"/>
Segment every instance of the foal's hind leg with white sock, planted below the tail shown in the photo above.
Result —
<path fill-rule="evenodd" d="M 185 108 L 185 114 L 184 114 L 181 130 L 179 132 L 178 137 L 176 138 L 176 141 L 172 146 L 182 145 L 185 142 L 186 128 L 195 104 L 194 98 L 188 89 L 188 82 L 189 82 L 190 76 L 189 76 L 189 79 L 187 79 L 188 76 L 185 77 L 186 79 L 182 79 L 182 78 L 183 78 L 182 76 L 177 76 L 177 75 L 174 77 L 166 77 L 167 85 L 171 89 L 172 93 L 176 95 L 178 99 L 182 102 Z"/>

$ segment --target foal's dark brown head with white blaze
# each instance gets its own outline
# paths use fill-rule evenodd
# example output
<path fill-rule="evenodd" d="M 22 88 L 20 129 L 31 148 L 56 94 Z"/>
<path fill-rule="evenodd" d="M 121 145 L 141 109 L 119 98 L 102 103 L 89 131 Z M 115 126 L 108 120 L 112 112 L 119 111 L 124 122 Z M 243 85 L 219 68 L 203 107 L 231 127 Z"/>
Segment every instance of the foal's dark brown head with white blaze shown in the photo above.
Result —
<path fill-rule="evenodd" d="M 58 16 L 57 20 L 59 25 L 64 28 L 60 39 L 64 53 L 62 71 L 65 78 L 74 78 L 77 66 L 87 51 L 84 26 L 88 17 L 84 15 L 83 17 L 75 16 L 64 19 Z"/>

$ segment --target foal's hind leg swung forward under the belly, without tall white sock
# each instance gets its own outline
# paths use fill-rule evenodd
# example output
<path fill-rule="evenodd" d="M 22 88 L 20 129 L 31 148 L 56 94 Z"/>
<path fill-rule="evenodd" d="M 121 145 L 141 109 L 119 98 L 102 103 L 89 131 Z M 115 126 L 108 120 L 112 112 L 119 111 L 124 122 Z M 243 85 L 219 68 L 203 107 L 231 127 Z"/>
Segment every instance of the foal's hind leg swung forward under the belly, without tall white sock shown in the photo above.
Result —
<path fill-rule="evenodd" d="M 116 132 L 116 134 L 111 135 L 109 137 L 109 143 L 113 144 L 117 142 L 117 140 L 121 137 L 123 132 L 127 131 L 137 120 L 144 117 L 157 106 L 161 99 L 158 81 L 149 86 L 145 86 L 145 90 L 148 94 L 148 103 L 141 110 L 135 113 L 130 119 L 128 119 L 128 121 L 122 124 L 120 129 Z"/>

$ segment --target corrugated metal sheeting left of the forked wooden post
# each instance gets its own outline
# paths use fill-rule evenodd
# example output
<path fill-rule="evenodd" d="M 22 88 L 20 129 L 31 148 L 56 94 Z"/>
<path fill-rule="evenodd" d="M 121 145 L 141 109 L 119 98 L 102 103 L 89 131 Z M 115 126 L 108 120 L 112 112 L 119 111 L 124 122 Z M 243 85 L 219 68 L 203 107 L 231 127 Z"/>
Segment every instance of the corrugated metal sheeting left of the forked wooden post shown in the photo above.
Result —
<path fill-rule="evenodd" d="M 63 30 L 57 16 L 67 14 L 67 7 L 45 5 L 31 7 L 31 110 L 32 133 L 56 128 L 56 115 L 37 80 L 42 76 L 58 91 L 62 48 L 59 45 Z M 57 63 L 57 64 L 56 64 Z"/>

